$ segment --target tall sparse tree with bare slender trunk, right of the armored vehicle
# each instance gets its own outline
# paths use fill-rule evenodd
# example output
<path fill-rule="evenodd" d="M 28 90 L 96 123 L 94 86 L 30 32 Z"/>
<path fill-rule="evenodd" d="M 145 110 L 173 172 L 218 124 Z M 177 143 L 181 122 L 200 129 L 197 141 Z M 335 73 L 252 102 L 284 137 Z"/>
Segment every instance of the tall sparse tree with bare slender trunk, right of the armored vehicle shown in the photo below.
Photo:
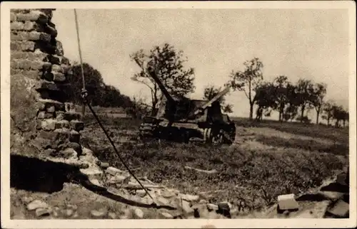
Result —
<path fill-rule="evenodd" d="M 253 119 L 254 91 L 263 80 L 263 63 L 259 58 L 253 58 L 243 63 L 243 71 L 232 71 L 229 77 L 231 80 L 226 85 L 230 85 L 233 90 L 243 91 L 249 100 L 249 119 Z"/>

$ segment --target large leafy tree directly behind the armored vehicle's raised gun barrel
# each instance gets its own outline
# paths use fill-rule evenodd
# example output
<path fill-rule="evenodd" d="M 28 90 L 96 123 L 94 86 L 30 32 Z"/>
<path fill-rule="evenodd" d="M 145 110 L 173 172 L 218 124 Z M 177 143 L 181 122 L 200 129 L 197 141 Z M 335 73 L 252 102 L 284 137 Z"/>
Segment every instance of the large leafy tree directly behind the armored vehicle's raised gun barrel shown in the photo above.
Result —
<path fill-rule="evenodd" d="M 182 50 L 178 51 L 174 46 L 165 43 L 162 47 L 154 46 L 148 54 L 141 49 L 131 54 L 130 58 L 141 68 L 141 71 L 131 79 L 146 85 L 151 91 L 151 115 L 156 115 L 155 107 L 159 102 L 161 92 L 159 85 L 146 74 L 149 68 L 156 72 L 157 77 L 171 95 L 183 96 L 193 92 L 194 70 L 183 68 L 187 59 L 183 59 Z"/>

